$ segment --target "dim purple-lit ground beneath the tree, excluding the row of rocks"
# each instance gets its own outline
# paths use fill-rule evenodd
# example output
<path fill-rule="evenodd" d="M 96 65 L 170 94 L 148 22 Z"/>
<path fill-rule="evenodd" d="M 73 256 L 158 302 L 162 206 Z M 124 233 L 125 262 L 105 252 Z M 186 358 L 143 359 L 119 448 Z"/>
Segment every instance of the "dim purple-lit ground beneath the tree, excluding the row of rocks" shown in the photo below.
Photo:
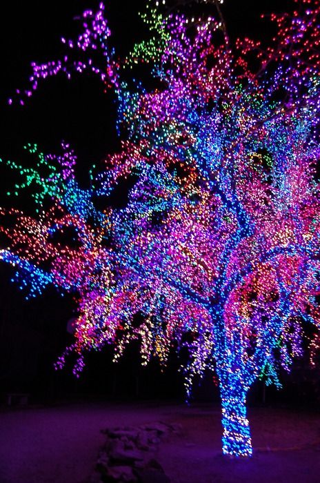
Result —
<path fill-rule="evenodd" d="M 218 407 L 64 404 L 0 412 L 0 483 L 87 483 L 103 428 L 176 422 L 157 458 L 172 483 L 319 483 L 320 413 L 251 408 L 254 456 L 221 455 Z"/>

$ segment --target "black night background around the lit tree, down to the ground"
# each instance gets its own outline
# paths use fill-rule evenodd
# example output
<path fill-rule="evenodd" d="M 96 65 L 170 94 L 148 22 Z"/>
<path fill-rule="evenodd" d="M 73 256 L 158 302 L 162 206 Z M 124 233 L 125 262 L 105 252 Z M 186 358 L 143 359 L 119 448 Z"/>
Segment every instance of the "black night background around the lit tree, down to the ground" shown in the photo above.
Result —
<path fill-rule="evenodd" d="M 125 55 L 134 41 L 147 32 L 139 19 L 144 1 L 108 2 L 112 40 L 117 52 Z M 0 10 L 0 156 L 21 163 L 30 162 L 23 146 L 36 142 L 44 152 L 55 152 L 62 139 L 70 142 L 78 155 L 77 176 L 86 186 L 88 169 L 102 164 L 104 156 L 119 148 L 115 130 L 115 106 L 111 93 L 103 94 L 102 84 L 90 75 L 63 75 L 40 83 L 26 106 L 8 98 L 23 88 L 31 74 L 31 61 L 57 59 L 65 52 L 60 38 L 74 37 L 81 24 L 72 21 L 86 8 L 97 8 L 93 0 L 54 0 L 6 2 Z M 198 7 L 199 8 L 199 7 Z M 261 12 L 292 8 L 287 0 L 225 0 L 223 12 L 230 37 L 243 34 L 268 41 L 273 31 Z M 196 8 L 197 10 L 197 8 Z M 194 10 L 195 11 L 195 10 Z M 193 10 L 190 8 L 190 13 Z M 143 78 L 142 78 L 143 81 Z M 2 206 L 19 206 L 24 199 L 7 199 L 12 175 L 0 165 Z M 28 208 L 28 205 L 27 205 Z M 183 381 L 172 355 L 168 368 L 161 373 L 157 361 L 141 368 L 139 353 L 132 345 L 118 364 L 112 364 L 112 348 L 91 353 L 79 380 L 71 374 L 71 365 L 54 371 L 53 363 L 72 336 L 66 324 L 73 315 L 72 297 L 61 297 L 54 290 L 26 301 L 19 288 L 10 283 L 13 268 L 0 264 L 0 393 L 25 391 L 34 402 L 52 403 L 66 397 L 175 398 L 183 400 Z M 294 365 L 292 375 L 281 375 L 284 389 L 266 391 L 266 402 L 316 404 L 319 398 L 319 373 L 310 371 L 307 359 Z M 195 384 L 195 400 L 218 400 L 212 375 L 201 385 Z M 263 402 L 263 384 L 258 382 L 250 393 L 251 404 Z"/>

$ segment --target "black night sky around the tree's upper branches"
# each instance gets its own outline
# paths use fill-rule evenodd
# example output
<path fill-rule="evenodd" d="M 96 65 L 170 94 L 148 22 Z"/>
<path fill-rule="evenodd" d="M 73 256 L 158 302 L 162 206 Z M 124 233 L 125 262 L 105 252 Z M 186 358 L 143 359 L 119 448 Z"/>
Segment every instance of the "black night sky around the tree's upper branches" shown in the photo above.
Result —
<path fill-rule="evenodd" d="M 110 93 L 103 95 L 103 87 L 92 76 L 78 75 L 66 81 L 61 75 L 41 83 L 24 108 L 6 104 L 15 89 L 26 86 L 30 62 L 63 55 L 60 38 L 63 35 L 72 38 L 81 28 L 81 22 L 72 19 L 97 5 L 97 1 L 90 0 L 31 0 L 18 5 L 7 2 L 4 11 L 2 8 L 1 156 L 19 157 L 26 142 L 37 142 L 43 150 L 54 150 L 61 139 L 66 139 L 79 156 L 79 170 L 86 171 L 86 167 L 99 163 L 107 152 L 119 146 L 114 99 Z M 117 52 L 125 55 L 134 41 L 148 35 L 138 15 L 144 1 L 111 0 L 106 5 L 112 41 Z M 230 37 L 249 34 L 268 39 L 272 33 L 270 24 L 261 21 L 259 14 L 286 10 L 290 5 L 292 2 L 288 0 L 226 0 L 223 12 Z"/>

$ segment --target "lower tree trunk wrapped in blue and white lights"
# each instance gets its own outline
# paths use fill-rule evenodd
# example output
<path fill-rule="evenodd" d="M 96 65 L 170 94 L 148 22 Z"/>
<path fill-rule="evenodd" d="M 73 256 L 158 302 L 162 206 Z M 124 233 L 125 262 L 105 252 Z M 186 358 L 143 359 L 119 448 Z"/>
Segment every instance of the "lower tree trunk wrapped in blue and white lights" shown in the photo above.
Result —
<path fill-rule="evenodd" d="M 248 386 L 239 374 L 228 374 L 220 382 L 222 401 L 222 451 L 225 455 L 251 456 L 252 444 L 249 421 L 246 417 Z"/>

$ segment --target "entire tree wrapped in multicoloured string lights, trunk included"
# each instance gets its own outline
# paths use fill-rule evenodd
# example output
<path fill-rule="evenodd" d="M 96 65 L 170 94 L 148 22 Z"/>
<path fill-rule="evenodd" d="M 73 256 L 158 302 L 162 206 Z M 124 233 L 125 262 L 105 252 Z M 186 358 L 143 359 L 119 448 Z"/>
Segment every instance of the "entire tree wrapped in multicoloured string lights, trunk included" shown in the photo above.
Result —
<path fill-rule="evenodd" d="M 117 95 L 124 140 L 90 171 L 90 189 L 77 184 L 67 144 L 59 155 L 27 146 L 32 169 L 9 162 L 23 178 L 14 192 L 34 188 L 37 209 L 1 210 L 1 259 L 30 296 L 49 284 L 74 294 L 74 344 L 57 366 L 75 351 L 77 374 L 86 351 L 114 344 L 118 359 L 133 339 L 143 364 L 187 347 L 188 392 L 206 368 L 219 377 L 223 453 L 251 455 L 248 389 L 259 377 L 279 384 L 307 324 L 312 354 L 319 348 L 319 0 L 272 14 L 267 47 L 230 42 L 222 0 L 206 2 L 216 17 L 197 19 L 158 3 L 144 17 L 150 38 L 126 59 L 110 48 L 101 4 L 83 13 L 75 41 L 62 39 L 74 54 L 32 63 L 21 103 L 42 79 L 91 72 Z M 124 80 L 141 66 L 153 89 Z M 128 177 L 126 206 L 98 210 Z M 59 242 L 70 230 L 77 246 Z"/>

